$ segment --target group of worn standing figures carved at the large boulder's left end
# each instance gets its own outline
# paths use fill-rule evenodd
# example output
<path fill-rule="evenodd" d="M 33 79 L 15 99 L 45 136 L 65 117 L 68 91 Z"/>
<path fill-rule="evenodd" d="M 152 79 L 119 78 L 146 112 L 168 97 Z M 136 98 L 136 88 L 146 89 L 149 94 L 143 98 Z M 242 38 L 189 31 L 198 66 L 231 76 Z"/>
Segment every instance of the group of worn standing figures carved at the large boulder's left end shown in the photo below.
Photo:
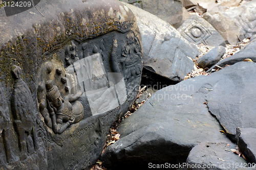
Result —
<path fill-rule="evenodd" d="M 42 129 L 31 91 L 22 79 L 22 69 L 14 65 L 12 75 L 15 80 L 10 98 L 12 119 L 9 116 L 4 90 L 0 87 L 0 120 L 1 126 L 4 126 L 0 126 L 3 143 L 1 146 L 4 147 L 7 162 L 14 163 L 17 167 L 22 168 L 22 162 L 27 159 L 38 161 L 40 167 L 44 167 L 47 164 L 45 131 Z M 2 115 L 5 115 L 3 119 Z"/>

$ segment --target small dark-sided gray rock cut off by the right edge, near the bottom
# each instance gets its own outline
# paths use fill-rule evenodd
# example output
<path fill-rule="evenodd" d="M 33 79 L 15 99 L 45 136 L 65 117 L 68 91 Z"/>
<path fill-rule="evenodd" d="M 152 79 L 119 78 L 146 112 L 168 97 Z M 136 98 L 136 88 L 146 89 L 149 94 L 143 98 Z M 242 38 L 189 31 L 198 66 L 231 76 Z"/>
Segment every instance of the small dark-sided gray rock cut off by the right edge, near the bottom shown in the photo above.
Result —
<path fill-rule="evenodd" d="M 241 152 L 251 163 L 256 163 L 256 129 L 237 128 L 237 142 Z"/>

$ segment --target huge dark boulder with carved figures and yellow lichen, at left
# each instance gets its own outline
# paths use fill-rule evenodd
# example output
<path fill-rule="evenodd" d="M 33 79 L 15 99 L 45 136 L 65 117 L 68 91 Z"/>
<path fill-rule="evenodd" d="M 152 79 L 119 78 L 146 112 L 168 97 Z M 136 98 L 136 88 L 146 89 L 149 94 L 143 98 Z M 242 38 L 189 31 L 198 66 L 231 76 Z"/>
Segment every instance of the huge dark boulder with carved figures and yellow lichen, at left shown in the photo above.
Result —
<path fill-rule="evenodd" d="M 0 9 L 0 169 L 85 169 L 136 99 L 137 22 L 119 1 L 35 5 Z"/>

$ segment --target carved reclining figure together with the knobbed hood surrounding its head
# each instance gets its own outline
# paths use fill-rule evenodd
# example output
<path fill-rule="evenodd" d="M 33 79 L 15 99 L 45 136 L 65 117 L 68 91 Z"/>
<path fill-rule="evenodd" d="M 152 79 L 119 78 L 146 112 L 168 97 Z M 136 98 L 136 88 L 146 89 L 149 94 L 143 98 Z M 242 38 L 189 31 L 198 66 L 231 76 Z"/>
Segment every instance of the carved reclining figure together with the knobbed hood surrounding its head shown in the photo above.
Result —
<path fill-rule="evenodd" d="M 71 46 L 73 49 L 74 44 Z M 73 75 L 65 73 L 57 63 L 47 62 L 41 70 L 41 82 L 37 88 L 39 110 L 45 124 L 54 133 L 61 134 L 83 118 L 86 109 L 83 106 L 84 101 L 79 99 L 83 92 L 77 90 Z"/>

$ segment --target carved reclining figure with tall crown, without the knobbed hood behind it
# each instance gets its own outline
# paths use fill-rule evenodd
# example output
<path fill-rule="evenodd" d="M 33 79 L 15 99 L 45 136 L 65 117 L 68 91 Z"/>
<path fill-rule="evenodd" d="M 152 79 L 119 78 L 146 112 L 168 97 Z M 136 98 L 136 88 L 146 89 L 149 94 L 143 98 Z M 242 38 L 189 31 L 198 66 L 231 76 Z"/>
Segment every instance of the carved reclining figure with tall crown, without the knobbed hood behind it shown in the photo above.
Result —
<path fill-rule="evenodd" d="M 59 89 L 52 80 L 46 82 L 47 110 L 49 111 L 54 133 L 61 134 L 70 125 L 78 123 L 84 114 L 83 105 L 77 99 L 82 94 L 69 94 L 62 99 Z"/>

